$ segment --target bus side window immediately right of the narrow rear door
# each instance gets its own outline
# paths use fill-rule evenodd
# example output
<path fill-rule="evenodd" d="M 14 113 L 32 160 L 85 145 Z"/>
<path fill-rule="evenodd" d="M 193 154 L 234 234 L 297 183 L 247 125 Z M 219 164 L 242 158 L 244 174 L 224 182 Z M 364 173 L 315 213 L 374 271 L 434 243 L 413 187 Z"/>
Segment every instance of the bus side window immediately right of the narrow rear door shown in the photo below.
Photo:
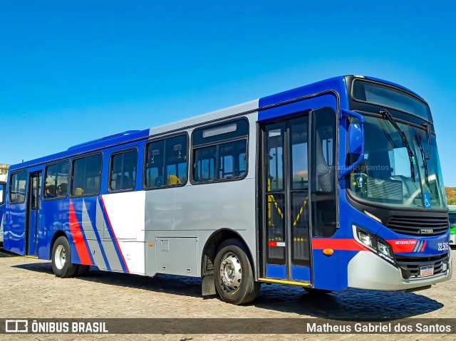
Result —
<path fill-rule="evenodd" d="M 44 199 L 65 198 L 68 193 L 68 162 L 46 167 Z"/>

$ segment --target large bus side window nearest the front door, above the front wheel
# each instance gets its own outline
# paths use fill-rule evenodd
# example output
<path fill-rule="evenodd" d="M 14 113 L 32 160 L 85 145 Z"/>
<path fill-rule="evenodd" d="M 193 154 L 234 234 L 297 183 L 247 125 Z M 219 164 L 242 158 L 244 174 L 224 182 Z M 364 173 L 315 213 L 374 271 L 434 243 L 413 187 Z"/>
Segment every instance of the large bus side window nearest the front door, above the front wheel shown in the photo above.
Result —
<path fill-rule="evenodd" d="M 244 177 L 247 172 L 248 132 L 247 120 L 195 130 L 193 181 L 212 182 Z"/>

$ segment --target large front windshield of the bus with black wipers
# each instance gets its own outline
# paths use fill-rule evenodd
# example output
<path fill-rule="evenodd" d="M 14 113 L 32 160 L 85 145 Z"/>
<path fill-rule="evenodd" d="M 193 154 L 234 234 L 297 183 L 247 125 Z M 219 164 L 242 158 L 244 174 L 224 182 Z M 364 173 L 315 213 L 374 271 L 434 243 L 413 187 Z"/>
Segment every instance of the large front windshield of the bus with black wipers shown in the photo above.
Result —
<path fill-rule="evenodd" d="M 384 117 L 366 116 L 365 160 L 351 173 L 351 192 L 359 199 L 390 206 L 445 208 L 440 161 L 435 136 Z M 428 141 L 430 144 L 428 145 Z M 425 154 L 429 151 L 430 159 Z"/>

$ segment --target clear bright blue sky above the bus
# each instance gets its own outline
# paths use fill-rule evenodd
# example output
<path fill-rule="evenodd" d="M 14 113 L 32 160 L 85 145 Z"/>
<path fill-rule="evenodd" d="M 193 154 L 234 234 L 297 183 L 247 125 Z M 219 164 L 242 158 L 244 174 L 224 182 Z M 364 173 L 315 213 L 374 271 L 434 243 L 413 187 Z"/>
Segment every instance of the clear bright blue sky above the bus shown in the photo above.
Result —
<path fill-rule="evenodd" d="M 456 187 L 455 10 L 421 0 L 0 0 L 0 163 L 355 74 L 427 100 L 445 185 Z"/>

